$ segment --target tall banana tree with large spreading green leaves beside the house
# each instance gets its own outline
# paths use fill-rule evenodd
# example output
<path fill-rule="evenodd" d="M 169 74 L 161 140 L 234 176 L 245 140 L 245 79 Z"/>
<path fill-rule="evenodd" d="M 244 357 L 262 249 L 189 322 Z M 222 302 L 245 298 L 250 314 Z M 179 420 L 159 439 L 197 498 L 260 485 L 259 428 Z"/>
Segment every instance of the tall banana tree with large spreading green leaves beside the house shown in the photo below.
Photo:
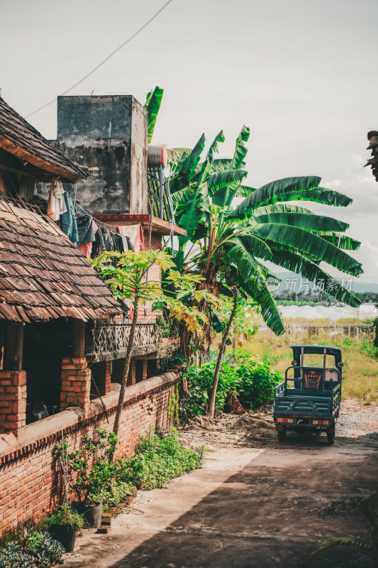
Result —
<path fill-rule="evenodd" d="M 321 178 L 301 176 L 269 182 L 255 189 L 245 185 L 245 143 L 250 131 L 243 126 L 233 158 L 215 159 L 223 132 L 216 136 L 201 162 L 205 137 L 193 150 L 183 151 L 172 165 L 170 182 L 179 226 L 187 230 L 179 239 L 176 263 L 180 269 L 198 272 L 202 286 L 218 294 L 228 283 L 252 297 L 261 307 L 267 325 L 276 334 L 284 324 L 267 280 L 279 280 L 267 266 L 271 261 L 308 280 L 331 278 L 321 262 L 350 275 L 362 273 L 361 264 L 347 252 L 360 246 L 345 236 L 345 222 L 318 215 L 293 201 L 312 201 L 345 207 L 349 197 L 321 186 Z M 243 201 L 235 207 L 235 197 Z M 226 287 L 227 288 L 227 287 Z M 360 301 L 337 281 L 332 294 L 351 306 Z M 211 308 L 201 305 L 210 316 Z M 187 337 L 192 341 L 193 337 Z M 188 352 L 188 351 L 187 351 Z"/>

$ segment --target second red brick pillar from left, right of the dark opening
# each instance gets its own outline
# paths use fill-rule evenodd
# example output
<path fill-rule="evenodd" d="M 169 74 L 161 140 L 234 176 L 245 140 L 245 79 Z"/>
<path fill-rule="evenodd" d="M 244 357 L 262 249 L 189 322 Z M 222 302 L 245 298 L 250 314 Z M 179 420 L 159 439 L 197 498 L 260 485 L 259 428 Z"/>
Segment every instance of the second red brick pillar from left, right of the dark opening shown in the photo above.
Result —
<path fill-rule="evenodd" d="M 65 357 L 62 361 L 60 410 L 79 407 L 87 413 L 91 393 L 91 369 L 85 357 Z"/>

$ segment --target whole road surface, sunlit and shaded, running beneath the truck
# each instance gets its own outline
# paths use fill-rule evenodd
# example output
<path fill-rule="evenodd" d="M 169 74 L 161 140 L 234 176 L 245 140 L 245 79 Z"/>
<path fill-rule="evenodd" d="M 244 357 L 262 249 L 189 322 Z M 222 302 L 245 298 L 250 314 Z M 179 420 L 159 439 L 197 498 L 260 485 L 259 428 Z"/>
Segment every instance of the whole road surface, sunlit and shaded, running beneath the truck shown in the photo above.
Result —
<path fill-rule="evenodd" d="M 119 515 L 109 535 L 87 531 L 65 566 L 301 567 L 316 542 L 367 526 L 360 517 L 317 513 L 331 500 L 377 488 L 376 410 L 345 405 L 332 447 L 325 436 L 295 434 L 279 444 L 269 413 L 194 425 L 182 439 L 211 449 L 204 467 L 141 492 L 133 506 L 143 513 Z M 336 550 L 310 566 L 349 567 L 352 558 Z"/>

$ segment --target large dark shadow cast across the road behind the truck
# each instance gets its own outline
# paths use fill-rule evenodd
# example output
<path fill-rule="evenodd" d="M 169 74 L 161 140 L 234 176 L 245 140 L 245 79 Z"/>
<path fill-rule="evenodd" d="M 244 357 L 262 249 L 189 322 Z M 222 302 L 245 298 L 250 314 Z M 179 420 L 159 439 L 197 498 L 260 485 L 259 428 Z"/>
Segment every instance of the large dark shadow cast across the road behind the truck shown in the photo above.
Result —
<path fill-rule="evenodd" d="M 315 452 L 300 452 L 301 444 Z M 288 436 L 282 452 L 262 452 L 110 568 L 300 568 L 313 543 L 365 528 L 360 518 L 317 515 L 329 501 L 377 487 L 377 454 L 363 457 L 340 446 L 324 452 L 323 437 Z M 333 550 L 311 568 L 350 567 L 353 558 Z"/>

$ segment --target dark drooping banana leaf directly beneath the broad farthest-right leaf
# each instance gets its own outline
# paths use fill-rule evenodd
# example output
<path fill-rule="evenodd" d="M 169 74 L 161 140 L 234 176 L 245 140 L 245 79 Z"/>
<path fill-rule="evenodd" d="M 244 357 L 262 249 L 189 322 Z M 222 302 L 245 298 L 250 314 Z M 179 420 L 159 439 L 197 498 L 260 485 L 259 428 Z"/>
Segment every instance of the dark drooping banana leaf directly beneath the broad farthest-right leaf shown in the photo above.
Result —
<path fill-rule="evenodd" d="M 326 285 L 328 280 L 332 280 L 332 286 L 326 290 L 328 294 L 335 297 L 336 300 L 340 300 L 340 302 L 344 302 L 352 307 L 358 307 L 361 303 L 360 300 L 349 290 L 344 288 L 337 279 L 332 278 L 328 273 L 319 268 L 317 264 L 309 261 L 308 258 L 304 258 L 300 254 L 272 249 L 272 258 L 270 260 L 274 264 L 282 266 L 282 268 L 286 268 L 296 274 L 301 274 L 311 282 L 323 280 L 323 284 Z"/>

